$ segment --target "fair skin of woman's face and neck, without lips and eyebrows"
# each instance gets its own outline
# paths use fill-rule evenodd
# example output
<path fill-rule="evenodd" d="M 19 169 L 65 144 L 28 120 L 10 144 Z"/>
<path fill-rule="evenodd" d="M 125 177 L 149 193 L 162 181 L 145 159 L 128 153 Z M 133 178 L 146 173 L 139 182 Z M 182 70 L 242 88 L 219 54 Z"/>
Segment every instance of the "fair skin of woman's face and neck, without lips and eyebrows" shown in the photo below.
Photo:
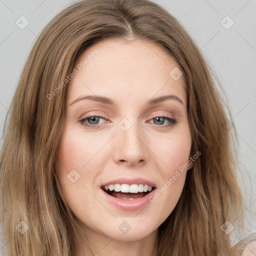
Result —
<path fill-rule="evenodd" d="M 175 207 L 186 171 L 192 165 L 143 209 L 118 209 L 104 200 L 99 190 L 102 183 L 120 177 L 142 177 L 160 189 L 187 162 L 191 136 L 183 77 L 174 80 L 169 75 L 177 63 L 164 49 L 138 39 L 97 42 L 80 54 L 75 65 L 95 48 L 99 52 L 68 84 L 66 118 L 56 161 L 58 181 L 93 254 L 156 255 L 157 227 Z M 146 105 L 152 97 L 169 94 L 183 103 L 167 99 Z M 85 95 L 109 97 L 116 106 L 88 99 L 71 104 Z M 87 124 L 99 125 L 88 128 L 79 119 L 89 115 L 105 117 L 86 119 Z M 176 123 L 167 126 L 170 121 L 157 116 L 174 118 Z M 123 118 L 131 123 L 125 132 L 118 126 Z M 72 169 L 80 175 L 74 183 L 66 176 Z M 131 227 L 125 234 L 118 229 L 123 221 Z M 79 249 L 79 255 L 91 253 L 85 242 Z"/>

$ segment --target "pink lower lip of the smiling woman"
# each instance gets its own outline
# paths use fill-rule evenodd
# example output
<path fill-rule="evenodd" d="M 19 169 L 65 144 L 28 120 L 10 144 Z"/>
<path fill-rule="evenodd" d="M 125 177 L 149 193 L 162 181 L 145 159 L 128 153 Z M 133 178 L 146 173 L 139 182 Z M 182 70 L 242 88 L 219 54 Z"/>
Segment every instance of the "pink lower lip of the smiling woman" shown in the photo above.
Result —
<path fill-rule="evenodd" d="M 120 199 L 120 198 L 111 196 L 101 188 L 100 188 L 100 193 L 102 194 L 102 196 L 105 198 L 106 201 L 110 202 L 117 208 L 119 208 L 121 210 L 130 210 L 131 211 L 131 210 L 140 209 L 143 206 L 145 206 L 149 202 L 149 197 L 154 194 L 154 190 L 155 190 L 155 188 L 151 192 L 149 192 L 148 194 L 146 194 L 142 197 L 139 197 L 136 199 L 130 199 L 130 200 L 129 199 L 127 199 L 127 200 Z"/>

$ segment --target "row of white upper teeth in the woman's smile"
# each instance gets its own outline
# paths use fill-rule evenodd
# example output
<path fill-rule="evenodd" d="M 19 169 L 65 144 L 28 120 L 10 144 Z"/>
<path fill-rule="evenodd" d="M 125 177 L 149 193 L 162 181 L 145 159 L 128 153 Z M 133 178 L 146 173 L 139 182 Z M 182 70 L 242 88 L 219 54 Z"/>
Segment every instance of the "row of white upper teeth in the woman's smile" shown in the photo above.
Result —
<path fill-rule="evenodd" d="M 152 187 L 144 184 L 110 184 L 106 185 L 105 189 L 109 189 L 110 191 L 114 190 L 115 192 L 121 191 L 123 193 L 137 193 L 151 191 Z"/>

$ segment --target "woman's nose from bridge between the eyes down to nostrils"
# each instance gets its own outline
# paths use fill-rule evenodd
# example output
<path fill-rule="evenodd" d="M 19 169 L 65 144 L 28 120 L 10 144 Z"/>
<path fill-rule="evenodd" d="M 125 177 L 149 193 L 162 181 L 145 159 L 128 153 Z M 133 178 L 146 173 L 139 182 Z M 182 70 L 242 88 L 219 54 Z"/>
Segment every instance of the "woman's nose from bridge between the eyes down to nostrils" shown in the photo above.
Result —
<path fill-rule="evenodd" d="M 113 158 L 116 162 L 127 161 L 135 164 L 148 157 L 143 130 L 135 116 L 121 119 L 117 124 Z"/>

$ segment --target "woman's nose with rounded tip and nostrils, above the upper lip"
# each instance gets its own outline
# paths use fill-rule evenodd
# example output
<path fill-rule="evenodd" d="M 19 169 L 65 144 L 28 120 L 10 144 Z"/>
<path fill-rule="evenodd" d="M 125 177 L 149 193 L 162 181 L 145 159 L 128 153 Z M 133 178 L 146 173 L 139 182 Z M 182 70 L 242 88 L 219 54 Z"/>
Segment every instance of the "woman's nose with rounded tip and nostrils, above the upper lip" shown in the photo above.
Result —
<path fill-rule="evenodd" d="M 145 163 L 148 160 L 148 147 L 145 135 L 138 125 L 132 123 L 130 128 L 123 131 L 117 127 L 114 136 L 113 160 L 117 164 L 129 166 Z"/>

